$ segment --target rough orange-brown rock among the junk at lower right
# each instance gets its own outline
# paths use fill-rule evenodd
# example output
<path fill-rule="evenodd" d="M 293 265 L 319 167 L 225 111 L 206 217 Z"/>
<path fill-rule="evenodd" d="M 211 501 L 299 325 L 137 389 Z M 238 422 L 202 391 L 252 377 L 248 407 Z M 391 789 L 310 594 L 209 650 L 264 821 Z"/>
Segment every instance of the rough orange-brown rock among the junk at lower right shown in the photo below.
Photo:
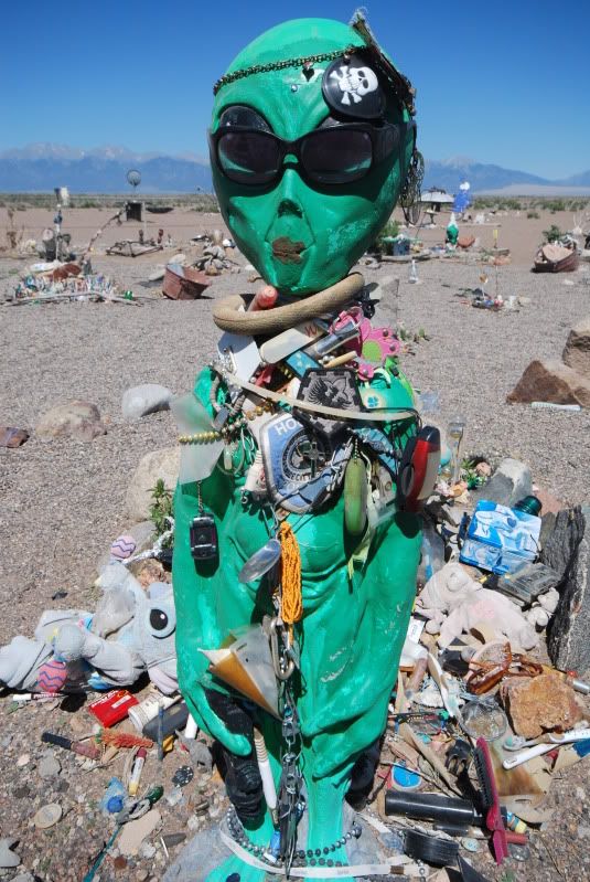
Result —
<path fill-rule="evenodd" d="M 557 673 L 511 677 L 502 683 L 501 698 L 514 731 L 526 738 L 565 732 L 583 715 L 575 691 Z"/>

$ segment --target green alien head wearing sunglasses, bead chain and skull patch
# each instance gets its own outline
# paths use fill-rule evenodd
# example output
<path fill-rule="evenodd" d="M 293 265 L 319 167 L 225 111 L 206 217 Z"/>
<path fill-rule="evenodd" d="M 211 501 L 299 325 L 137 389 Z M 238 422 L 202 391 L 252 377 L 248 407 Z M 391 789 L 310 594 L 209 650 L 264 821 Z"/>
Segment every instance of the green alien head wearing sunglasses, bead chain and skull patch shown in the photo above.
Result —
<path fill-rule="evenodd" d="M 219 208 L 242 252 L 285 294 L 343 278 L 405 180 L 416 130 L 373 49 L 336 21 L 289 21 L 246 46 L 216 85 Z"/>

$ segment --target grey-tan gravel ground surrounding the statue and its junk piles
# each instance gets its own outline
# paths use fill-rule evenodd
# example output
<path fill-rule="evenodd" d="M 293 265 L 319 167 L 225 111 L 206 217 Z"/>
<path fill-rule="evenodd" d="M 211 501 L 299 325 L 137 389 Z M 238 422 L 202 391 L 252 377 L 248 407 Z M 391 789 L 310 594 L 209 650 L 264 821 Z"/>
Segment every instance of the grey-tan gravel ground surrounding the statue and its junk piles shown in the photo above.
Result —
<path fill-rule="evenodd" d="M 141 286 L 151 268 L 148 261 L 96 257 L 94 265 L 114 276 L 121 288 L 148 294 Z M 23 266 L 0 259 L 0 298 L 2 288 L 14 284 L 13 270 Z M 533 358 L 561 355 L 570 327 L 588 311 L 589 268 L 586 265 L 566 279 L 500 267 L 502 296 L 530 298 L 518 311 L 500 314 L 473 309 L 458 296 L 461 288 L 480 284 L 482 267 L 473 263 L 419 264 L 419 285 L 408 284 L 407 265 L 362 268 L 367 281 L 399 276 L 397 298 L 384 302 L 378 315 L 401 321 L 410 331 L 426 330 L 429 339 L 414 346 L 404 368 L 419 390 L 439 393 L 443 423 L 457 414 L 466 418 L 466 450 L 523 459 L 539 486 L 568 503 L 590 499 L 588 412 L 534 411 L 528 405 L 508 405 L 505 397 Z M 495 269 L 487 272 L 489 288 L 494 291 Z M 211 298 L 255 290 L 247 276 L 243 272 L 214 279 Z M 0 424 L 31 431 L 49 407 L 73 399 L 96 404 L 108 422 L 107 434 L 92 443 L 42 443 L 33 434 L 19 449 L 0 449 L 0 597 L 8 604 L 0 620 L 0 644 L 15 634 L 31 635 L 44 608 L 57 604 L 93 608 L 97 561 L 126 527 L 124 500 L 131 472 L 146 453 L 174 444 L 176 433 L 169 413 L 124 423 L 122 393 L 146 382 L 161 383 L 174 393 L 189 390 L 218 334 L 211 318 L 212 299 L 171 302 L 152 297 L 141 308 L 105 304 L 0 307 Z M 56 591 L 67 592 L 66 599 L 52 602 Z M 17 769 L 15 757 L 28 752 L 34 766 L 42 753 L 40 731 L 50 721 L 54 730 L 60 724 L 66 731 L 72 715 L 41 706 L 9 714 L 9 706 L 10 700 L 0 701 L 0 798 L 8 806 L 1 835 L 21 837 L 19 853 L 29 868 L 37 861 L 40 879 L 81 879 L 81 868 L 98 850 L 104 835 L 96 812 L 90 811 L 88 823 L 84 819 L 88 800 L 99 798 L 105 782 L 116 772 L 74 775 L 65 799 L 71 817 L 83 820 L 62 821 L 40 835 L 30 819 L 35 805 L 52 801 L 51 788 L 28 772 L 32 766 Z M 75 771 L 72 755 L 66 755 L 67 763 Z M 30 794 L 19 799 L 15 790 L 23 779 Z M 556 873 L 568 880 L 588 879 L 582 867 L 588 861 L 584 837 L 590 836 L 590 827 L 584 826 L 582 812 L 588 810 L 583 788 L 589 786 L 587 766 L 571 769 L 555 783 L 550 804 L 558 808 L 556 818 L 549 831 L 536 838 L 526 864 L 509 862 L 512 875 L 505 875 L 505 882 L 556 879 Z M 167 831 L 176 829 L 184 828 L 169 826 Z M 111 878 L 109 867 L 101 872 L 103 882 Z M 485 869 L 490 878 L 500 879 L 487 859 Z M 155 865 L 151 872 L 159 878 Z M 139 868 L 116 878 L 147 879 L 142 873 Z"/>

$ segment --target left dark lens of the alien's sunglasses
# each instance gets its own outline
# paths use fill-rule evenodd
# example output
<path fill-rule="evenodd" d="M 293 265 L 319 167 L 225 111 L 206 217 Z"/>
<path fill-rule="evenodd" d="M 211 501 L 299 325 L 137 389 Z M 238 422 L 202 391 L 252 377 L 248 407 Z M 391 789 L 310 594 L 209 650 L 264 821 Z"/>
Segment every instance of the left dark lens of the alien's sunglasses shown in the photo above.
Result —
<path fill-rule="evenodd" d="M 227 131 L 217 144 L 217 158 L 229 180 L 265 184 L 279 170 L 280 148 L 275 138 L 260 131 Z"/>

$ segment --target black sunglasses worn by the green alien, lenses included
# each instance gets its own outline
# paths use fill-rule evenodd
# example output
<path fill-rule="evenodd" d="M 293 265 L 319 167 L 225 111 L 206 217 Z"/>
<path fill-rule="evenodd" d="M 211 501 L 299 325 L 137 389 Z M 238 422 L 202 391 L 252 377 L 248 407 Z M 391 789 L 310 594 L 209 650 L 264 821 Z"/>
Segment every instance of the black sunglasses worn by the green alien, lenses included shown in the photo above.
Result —
<path fill-rule="evenodd" d="M 264 187 L 282 176 L 285 158 L 294 156 L 310 183 L 335 185 L 358 181 L 405 144 L 415 123 L 345 123 L 314 129 L 296 141 L 271 131 L 222 126 L 208 132 L 212 161 L 230 181 Z"/>

